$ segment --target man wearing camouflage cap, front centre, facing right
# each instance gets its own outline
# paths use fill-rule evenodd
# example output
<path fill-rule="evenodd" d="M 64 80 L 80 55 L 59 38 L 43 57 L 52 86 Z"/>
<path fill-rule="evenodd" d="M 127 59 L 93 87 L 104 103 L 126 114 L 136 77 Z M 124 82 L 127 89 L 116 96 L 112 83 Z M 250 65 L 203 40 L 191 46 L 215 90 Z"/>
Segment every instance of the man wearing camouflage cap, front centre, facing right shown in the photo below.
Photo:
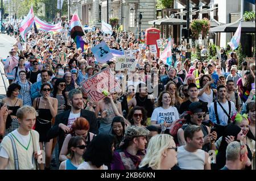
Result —
<path fill-rule="evenodd" d="M 148 134 L 146 128 L 130 126 L 120 149 L 114 151 L 111 170 L 137 170 L 145 155 Z"/>

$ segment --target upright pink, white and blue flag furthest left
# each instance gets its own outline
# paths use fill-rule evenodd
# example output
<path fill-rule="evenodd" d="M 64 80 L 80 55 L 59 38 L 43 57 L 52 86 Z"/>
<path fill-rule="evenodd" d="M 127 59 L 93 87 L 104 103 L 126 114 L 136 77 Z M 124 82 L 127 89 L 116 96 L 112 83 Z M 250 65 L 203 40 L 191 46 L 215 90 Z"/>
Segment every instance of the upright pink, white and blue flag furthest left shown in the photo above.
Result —
<path fill-rule="evenodd" d="M 19 27 L 19 32 L 24 41 L 26 41 L 27 32 L 31 30 L 34 24 L 34 11 L 31 5 L 30 11 L 27 16 L 22 20 Z"/>

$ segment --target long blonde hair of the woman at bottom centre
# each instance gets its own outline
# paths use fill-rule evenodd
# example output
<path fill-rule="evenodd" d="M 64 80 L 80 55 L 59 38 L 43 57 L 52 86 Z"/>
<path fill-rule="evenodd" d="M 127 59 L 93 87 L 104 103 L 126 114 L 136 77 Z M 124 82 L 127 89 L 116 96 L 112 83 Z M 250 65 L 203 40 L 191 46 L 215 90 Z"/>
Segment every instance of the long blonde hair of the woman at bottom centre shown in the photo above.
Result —
<path fill-rule="evenodd" d="M 148 165 L 148 167 L 160 170 L 162 154 L 170 148 L 172 140 L 174 138 L 170 134 L 157 134 L 153 136 L 148 143 L 147 154 L 142 159 L 139 167 Z"/>

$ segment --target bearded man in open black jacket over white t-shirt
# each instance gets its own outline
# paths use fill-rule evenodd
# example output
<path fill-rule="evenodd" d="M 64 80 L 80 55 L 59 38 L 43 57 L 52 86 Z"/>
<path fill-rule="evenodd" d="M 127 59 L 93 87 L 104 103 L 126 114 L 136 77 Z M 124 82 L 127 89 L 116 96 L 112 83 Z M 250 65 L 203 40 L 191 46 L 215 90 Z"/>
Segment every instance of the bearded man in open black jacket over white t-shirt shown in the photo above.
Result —
<path fill-rule="evenodd" d="M 71 103 L 71 110 L 59 113 L 55 117 L 53 127 L 48 131 L 48 138 L 52 139 L 59 136 L 59 153 L 65 139 L 65 135 L 70 132 L 71 125 L 78 117 L 84 117 L 88 120 L 90 129 L 89 132 L 98 133 L 98 126 L 95 113 L 92 111 L 82 110 L 82 92 L 78 89 L 73 89 L 68 93 L 68 99 Z"/>

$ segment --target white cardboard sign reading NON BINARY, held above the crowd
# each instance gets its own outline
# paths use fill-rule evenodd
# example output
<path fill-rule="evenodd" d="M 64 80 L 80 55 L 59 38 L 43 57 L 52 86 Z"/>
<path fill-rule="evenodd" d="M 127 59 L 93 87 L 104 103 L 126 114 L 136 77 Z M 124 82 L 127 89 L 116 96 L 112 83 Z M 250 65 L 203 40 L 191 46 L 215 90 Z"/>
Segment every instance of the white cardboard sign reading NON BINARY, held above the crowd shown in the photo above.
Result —
<path fill-rule="evenodd" d="M 128 69 L 129 71 L 134 71 L 136 68 L 138 60 L 133 57 L 117 57 L 115 62 L 115 70 L 121 71 Z"/>

